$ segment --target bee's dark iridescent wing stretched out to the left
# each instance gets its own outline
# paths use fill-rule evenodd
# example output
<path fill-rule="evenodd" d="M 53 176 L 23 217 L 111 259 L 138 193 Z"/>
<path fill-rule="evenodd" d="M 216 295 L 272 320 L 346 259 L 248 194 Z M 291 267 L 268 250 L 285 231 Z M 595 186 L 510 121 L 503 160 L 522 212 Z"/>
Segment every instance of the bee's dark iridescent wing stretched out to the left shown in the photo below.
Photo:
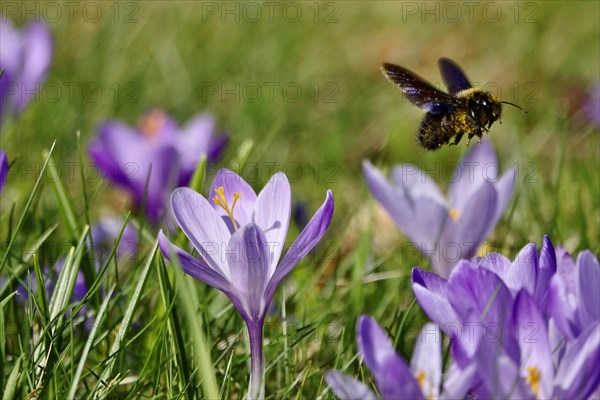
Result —
<path fill-rule="evenodd" d="M 383 75 L 404 93 L 408 101 L 417 107 L 439 114 L 456 104 L 448 93 L 436 89 L 431 83 L 399 65 L 383 63 Z"/>

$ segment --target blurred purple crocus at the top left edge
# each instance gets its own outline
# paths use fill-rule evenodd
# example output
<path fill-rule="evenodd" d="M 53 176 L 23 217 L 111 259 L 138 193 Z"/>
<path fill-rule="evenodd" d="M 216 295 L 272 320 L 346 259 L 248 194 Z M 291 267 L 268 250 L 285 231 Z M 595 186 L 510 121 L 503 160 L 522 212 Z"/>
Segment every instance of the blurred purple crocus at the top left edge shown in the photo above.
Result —
<path fill-rule="evenodd" d="M 0 126 L 9 114 L 19 114 L 46 79 L 52 61 L 52 34 L 43 22 L 30 22 L 19 31 L 0 18 Z"/>

